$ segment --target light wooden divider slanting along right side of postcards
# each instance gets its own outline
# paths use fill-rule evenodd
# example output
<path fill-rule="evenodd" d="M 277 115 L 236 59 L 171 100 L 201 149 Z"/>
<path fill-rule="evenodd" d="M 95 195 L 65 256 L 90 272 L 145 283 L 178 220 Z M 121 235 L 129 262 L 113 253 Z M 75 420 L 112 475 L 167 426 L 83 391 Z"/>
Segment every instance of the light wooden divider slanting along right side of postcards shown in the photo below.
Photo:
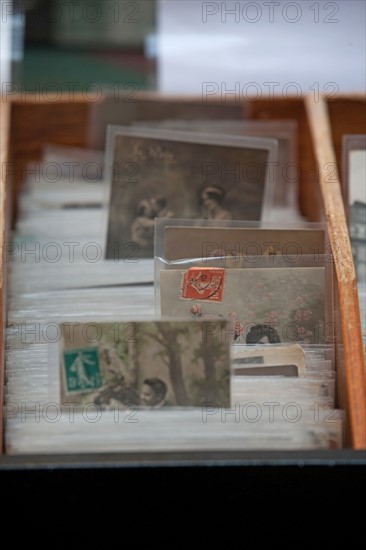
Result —
<path fill-rule="evenodd" d="M 351 444 L 354 449 L 366 448 L 365 368 L 362 346 L 360 310 L 356 272 L 343 206 L 337 159 L 332 141 L 332 130 L 326 100 L 305 100 L 313 144 L 319 167 L 319 182 L 324 200 L 325 215 L 332 247 L 338 283 L 340 321 L 344 348 L 347 414 Z M 338 356 L 340 355 L 340 350 Z"/>

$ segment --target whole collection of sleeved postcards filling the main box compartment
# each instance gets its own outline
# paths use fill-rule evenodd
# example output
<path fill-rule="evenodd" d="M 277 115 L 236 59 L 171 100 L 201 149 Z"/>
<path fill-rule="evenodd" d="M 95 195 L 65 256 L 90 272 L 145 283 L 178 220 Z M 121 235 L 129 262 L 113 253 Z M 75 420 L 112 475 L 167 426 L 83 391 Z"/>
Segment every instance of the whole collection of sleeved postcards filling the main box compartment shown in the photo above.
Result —
<path fill-rule="evenodd" d="M 70 184 L 77 152 L 51 148 L 29 175 L 6 245 L 9 453 L 342 446 L 325 229 L 270 222 L 292 208 L 273 170 L 290 138 L 195 130 L 111 127 L 101 170 L 84 153 Z"/>

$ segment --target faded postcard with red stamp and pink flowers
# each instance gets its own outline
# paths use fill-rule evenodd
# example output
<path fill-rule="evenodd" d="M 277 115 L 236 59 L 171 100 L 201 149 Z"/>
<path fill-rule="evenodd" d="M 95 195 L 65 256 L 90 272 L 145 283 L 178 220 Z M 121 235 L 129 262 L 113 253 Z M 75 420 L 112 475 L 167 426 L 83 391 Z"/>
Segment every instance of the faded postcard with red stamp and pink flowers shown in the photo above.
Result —
<path fill-rule="evenodd" d="M 163 317 L 222 318 L 244 344 L 325 343 L 325 268 L 221 269 L 160 272 Z"/>

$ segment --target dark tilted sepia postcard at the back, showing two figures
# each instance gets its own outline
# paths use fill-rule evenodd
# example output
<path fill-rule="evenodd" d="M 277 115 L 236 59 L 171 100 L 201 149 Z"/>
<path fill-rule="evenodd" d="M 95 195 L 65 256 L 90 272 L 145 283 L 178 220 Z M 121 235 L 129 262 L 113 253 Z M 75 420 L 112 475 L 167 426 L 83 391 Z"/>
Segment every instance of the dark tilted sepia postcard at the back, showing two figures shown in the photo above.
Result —
<path fill-rule="evenodd" d="M 155 218 L 265 220 L 277 141 L 109 127 L 107 258 L 154 255 Z"/>

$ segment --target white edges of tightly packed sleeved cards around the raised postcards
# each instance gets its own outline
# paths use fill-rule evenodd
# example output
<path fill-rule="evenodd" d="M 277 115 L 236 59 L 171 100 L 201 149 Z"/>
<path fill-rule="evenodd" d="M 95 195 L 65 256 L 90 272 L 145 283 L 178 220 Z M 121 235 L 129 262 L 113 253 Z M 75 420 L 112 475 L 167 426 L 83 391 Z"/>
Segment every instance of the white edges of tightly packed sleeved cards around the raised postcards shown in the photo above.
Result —
<path fill-rule="evenodd" d="M 302 378 L 232 374 L 230 409 L 99 410 L 91 404 L 67 411 L 50 399 L 55 380 L 50 379 L 49 347 L 57 345 L 60 322 L 154 318 L 153 261 L 103 259 L 104 185 L 40 181 L 26 186 L 21 198 L 6 250 L 7 452 L 340 447 L 334 362 L 331 350 L 321 346 L 305 350 L 307 376 Z M 329 408 L 334 423 L 324 418 Z"/>

